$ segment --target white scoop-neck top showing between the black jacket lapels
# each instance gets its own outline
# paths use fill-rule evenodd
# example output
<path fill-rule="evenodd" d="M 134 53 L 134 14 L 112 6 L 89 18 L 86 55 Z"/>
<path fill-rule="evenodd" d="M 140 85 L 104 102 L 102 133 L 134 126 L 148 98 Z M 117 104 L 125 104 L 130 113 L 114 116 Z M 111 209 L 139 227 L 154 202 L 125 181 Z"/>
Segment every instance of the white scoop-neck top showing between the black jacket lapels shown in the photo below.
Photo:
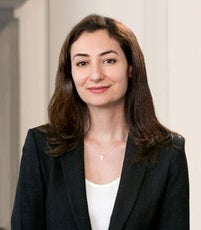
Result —
<path fill-rule="evenodd" d="M 86 179 L 86 194 L 92 230 L 107 230 L 120 178 L 108 184 L 94 184 Z"/>

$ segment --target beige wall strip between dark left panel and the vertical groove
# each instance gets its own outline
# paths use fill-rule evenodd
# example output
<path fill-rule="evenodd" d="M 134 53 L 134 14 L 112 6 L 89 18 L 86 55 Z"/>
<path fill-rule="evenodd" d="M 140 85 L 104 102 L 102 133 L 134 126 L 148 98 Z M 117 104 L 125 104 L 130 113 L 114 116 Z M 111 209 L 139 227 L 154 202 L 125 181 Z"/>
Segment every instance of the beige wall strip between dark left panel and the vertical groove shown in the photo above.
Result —
<path fill-rule="evenodd" d="M 47 1 L 27 0 L 15 11 L 19 19 L 20 148 L 27 129 L 47 119 Z"/>

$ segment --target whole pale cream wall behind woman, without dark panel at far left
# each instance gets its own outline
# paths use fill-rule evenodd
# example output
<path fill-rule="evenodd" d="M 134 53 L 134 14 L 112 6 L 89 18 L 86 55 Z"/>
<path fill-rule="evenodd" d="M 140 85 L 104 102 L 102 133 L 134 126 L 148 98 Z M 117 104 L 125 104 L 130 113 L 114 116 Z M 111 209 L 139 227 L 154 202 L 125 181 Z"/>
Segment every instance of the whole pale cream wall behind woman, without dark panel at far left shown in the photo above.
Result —
<path fill-rule="evenodd" d="M 16 12 L 21 21 L 21 143 L 27 128 L 46 120 L 47 101 L 67 32 L 89 13 L 115 17 L 131 27 L 139 39 L 158 117 L 186 138 L 191 229 L 199 230 L 200 9 L 200 0 L 28 0 Z"/>

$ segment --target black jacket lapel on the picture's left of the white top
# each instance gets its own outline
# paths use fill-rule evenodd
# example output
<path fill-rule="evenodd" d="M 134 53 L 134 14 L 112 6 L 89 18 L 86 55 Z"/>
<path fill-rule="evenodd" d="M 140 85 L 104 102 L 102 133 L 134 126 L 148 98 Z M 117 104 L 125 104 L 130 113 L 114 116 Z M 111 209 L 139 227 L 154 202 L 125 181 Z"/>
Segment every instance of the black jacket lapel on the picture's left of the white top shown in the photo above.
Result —
<path fill-rule="evenodd" d="M 85 190 L 83 144 L 61 157 L 67 196 L 78 229 L 90 230 Z"/>

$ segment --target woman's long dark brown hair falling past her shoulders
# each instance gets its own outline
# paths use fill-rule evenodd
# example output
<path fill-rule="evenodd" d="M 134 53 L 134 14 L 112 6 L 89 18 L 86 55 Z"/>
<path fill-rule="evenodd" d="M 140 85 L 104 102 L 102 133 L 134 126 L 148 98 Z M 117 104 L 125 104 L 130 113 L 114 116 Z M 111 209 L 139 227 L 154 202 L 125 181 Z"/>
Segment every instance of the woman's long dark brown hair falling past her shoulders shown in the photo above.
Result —
<path fill-rule="evenodd" d="M 128 78 L 125 99 L 125 115 L 129 135 L 145 156 L 147 150 L 155 149 L 171 139 L 171 132 L 158 121 L 147 74 L 143 53 L 133 32 L 109 17 L 89 15 L 81 20 L 68 34 L 61 49 L 56 85 L 50 100 L 49 124 L 43 127 L 48 134 L 49 154 L 59 156 L 72 150 L 83 140 L 86 121 L 90 120 L 86 104 L 79 97 L 71 74 L 70 52 L 72 44 L 83 32 L 105 30 L 119 42 L 128 65 L 132 66 Z"/>

